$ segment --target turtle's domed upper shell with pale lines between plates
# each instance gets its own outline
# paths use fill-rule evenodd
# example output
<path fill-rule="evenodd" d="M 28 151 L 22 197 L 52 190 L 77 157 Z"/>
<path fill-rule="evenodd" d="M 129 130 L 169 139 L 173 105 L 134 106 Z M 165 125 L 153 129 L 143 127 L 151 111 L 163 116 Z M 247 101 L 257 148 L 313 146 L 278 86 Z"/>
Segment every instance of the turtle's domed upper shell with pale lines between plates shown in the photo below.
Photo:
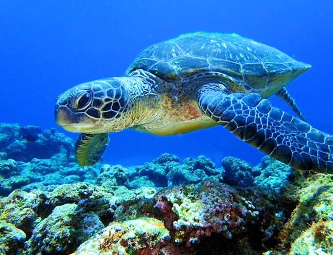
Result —
<path fill-rule="evenodd" d="M 168 82 L 198 73 L 219 72 L 256 90 L 284 87 L 311 66 L 237 34 L 197 32 L 152 45 L 142 51 L 125 75 L 143 69 Z"/>

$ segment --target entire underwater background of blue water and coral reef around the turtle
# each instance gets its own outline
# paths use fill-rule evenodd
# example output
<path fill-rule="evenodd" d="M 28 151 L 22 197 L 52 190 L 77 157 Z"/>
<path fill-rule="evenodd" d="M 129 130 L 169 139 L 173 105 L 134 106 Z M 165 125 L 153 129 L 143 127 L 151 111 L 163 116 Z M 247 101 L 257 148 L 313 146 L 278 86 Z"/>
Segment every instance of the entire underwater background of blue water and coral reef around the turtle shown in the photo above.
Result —
<path fill-rule="evenodd" d="M 220 126 L 123 130 L 103 160 L 77 164 L 57 96 L 194 31 L 311 64 L 287 89 L 333 134 L 332 1 L 0 0 L 0 255 L 333 254 L 333 174 L 292 169 Z"/>

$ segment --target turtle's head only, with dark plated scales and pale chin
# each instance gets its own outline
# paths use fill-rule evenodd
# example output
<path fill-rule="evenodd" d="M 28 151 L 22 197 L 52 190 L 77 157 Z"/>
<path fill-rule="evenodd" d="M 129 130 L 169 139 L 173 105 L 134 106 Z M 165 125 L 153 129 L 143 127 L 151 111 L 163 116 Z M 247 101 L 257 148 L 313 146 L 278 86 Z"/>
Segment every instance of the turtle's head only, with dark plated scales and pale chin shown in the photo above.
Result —
<path fill-rule="evenodd" d="M 67 90 L 55 104 L 57 124 L 68 131 L 81 133 L 106 133 L 127 128 L 129 97 L 125 83 L 125 77 L 115 77 L 82 83 Z"/>

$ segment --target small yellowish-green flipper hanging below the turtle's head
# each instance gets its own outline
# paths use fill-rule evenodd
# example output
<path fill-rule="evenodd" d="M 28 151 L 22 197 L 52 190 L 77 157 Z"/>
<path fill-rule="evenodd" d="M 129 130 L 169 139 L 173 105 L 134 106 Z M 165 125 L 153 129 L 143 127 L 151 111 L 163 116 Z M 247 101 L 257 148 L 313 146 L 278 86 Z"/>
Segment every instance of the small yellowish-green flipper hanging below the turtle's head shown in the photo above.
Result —
<path fill-rule="evenodd" d="M 80 166 L 95 165 L 102 157 L 109 142 L 109 135 L 81 133 L 75 142 L 75 157 Z"/>

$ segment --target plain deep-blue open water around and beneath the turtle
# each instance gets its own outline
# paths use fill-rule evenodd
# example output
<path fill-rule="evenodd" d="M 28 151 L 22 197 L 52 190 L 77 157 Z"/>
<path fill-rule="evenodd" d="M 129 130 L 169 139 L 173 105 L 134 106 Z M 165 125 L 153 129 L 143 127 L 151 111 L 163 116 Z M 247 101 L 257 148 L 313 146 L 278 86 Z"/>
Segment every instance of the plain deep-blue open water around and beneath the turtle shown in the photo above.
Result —
<path fill-rule="evenodd" d="M 309 123 L 333 134 L 333 4 L 329 0 L 1 0 L 0 122 L 56 128 L 58 94 L 98 78 L 122 76 L 151 44 L 193 31 L 235 32 L 273 46 L 312 69 L 287 86 Z M 290 109 L 276 97 L 275 106 Z M 159 137 L 110 135 L 104 159 L 136 165 L 161 153 L 204 154 L 252 164 L 263 153 L 222 127 Z"/>

